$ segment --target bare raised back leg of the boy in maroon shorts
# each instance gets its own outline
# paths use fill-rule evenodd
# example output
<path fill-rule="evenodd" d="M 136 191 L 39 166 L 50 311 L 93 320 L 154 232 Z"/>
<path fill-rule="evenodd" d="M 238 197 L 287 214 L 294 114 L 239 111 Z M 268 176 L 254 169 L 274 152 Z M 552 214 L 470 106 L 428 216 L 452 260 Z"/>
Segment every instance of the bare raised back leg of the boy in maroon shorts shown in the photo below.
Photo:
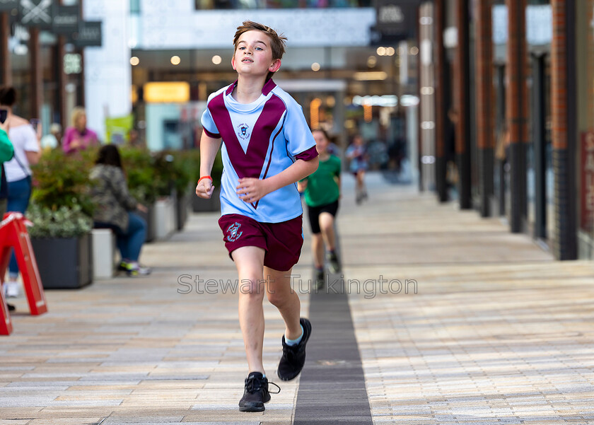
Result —
<path fill-rule="evenodd" d="M 291 289 L 291 270 L 280 272 L 269 267 L 264 267 L 268 301 L 279 309 L 285 322 L 285 338 L 297 339 L 301 337 L 299 315 L 301 302 L 297 293 Z"/>

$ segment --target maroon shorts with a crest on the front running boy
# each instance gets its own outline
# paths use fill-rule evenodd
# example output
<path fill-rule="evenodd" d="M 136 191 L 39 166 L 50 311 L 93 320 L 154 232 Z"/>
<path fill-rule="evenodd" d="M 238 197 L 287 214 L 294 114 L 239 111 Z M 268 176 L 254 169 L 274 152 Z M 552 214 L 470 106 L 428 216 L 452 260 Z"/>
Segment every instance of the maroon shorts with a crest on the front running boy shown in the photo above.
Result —
<path fill-rule="evenodd" d="M 226 214 L 219 219 L 219 226 L 229 257 L 238 248 L 255 246 L 265 251 L 264 266 L 279 272 L 290 270 L 299 261 L 303 216 L 281 223 L 260 223 L 241 214 Z"/>

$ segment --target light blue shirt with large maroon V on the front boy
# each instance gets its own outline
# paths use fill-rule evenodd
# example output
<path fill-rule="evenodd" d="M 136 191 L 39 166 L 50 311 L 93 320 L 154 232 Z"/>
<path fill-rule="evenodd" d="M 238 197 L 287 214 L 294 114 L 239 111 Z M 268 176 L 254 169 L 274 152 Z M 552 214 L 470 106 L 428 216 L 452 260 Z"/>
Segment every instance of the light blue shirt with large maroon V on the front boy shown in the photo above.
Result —
<path fill-rule="evenodd" d="M 280 223 L 303 214 L 297 184 L 281 187 L 258 202 L 243 202 L 237 192 L 242 177 L 264 179 L 298 159 L 318 156 L 303 110 L 289 93 L 268 80 L 253 103 L 238 103 L 235 83 L 209 96 L 202 114 L 207 135 L 223 139 L 221 214 L 242 214 L 260 223 Z"/>

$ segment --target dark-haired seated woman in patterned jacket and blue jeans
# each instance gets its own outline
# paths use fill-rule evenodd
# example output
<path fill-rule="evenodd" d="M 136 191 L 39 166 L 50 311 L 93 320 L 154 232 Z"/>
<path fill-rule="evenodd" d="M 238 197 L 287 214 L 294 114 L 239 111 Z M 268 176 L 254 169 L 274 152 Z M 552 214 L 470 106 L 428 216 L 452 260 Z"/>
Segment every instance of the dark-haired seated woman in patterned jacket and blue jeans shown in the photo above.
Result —
<path fill-rule="evenodd" d="M 115 231 L 117 248 L 122 255 L 120 269 L 129 276 L 149 274 L 151 269 L 141 267 L 138 262 L 146 238 L 146 222 L 132 212 L 136 209 L 146 212 L 146 206 L 139 204 L 128 192 L 117 146 L 109 144 L 99 150 L 91 169 L 91 180 L 95 182 L 92 189 L 94 226 Z"/>

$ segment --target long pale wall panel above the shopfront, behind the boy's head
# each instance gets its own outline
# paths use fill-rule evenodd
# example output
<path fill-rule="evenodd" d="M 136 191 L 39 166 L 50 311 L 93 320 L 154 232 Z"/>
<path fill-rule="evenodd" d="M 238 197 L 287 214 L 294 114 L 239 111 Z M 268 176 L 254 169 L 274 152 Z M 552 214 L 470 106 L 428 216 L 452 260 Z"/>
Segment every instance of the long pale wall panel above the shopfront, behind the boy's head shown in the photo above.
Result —
<path fill-rule="evenodd" d="M 373 8 L 195 11 L 188 10 L 187 0 L 166 3 L 143 1 L 138 48 L 229 48 L 235 29 L 245 20 L 284 33 L 289 38 L 288 46 L 366 46 L 369 27 L 375 23 Z"/>

